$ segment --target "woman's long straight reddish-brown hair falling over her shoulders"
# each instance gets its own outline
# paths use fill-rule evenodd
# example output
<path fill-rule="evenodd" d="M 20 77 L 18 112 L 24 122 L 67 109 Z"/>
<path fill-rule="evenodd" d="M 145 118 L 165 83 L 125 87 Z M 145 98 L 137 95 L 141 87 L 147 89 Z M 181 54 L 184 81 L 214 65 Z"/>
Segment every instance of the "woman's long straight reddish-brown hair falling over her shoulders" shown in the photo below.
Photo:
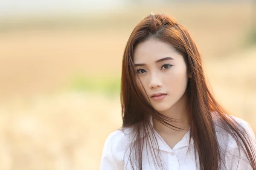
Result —
<path fill-rule="evenodd" d="M 256 157 L 253 141 L 250 140 L 247 131 L 216 101 L 204 76 L 201 55 L 188 31 L 168 15 L 153 13 L 145 17 L 132 31 L 122 60 L 122 127 L 132 127 L 134 141 L 130 146 L 129 158 L 132 161 L 131 156 L 134 153 L 133 169 L 143 170 L 143 145 L 149 142 L 157 145 L 150 117 L 170 128 L 177 129 L 169 123 L 175 121 L 174 119 L 164 116 L 151 107 L 136 81 L 133 62 L 134 49 L 140 42 L 149 38 L 172 45 L 184 57 L 188 71 L 192 76 L 188 80 L 185 93 L 189 101 L 187 107 L 191 130 L 190 139 L 194 141 L 193 147 L 195 154 L 198 154 L 200 169 L 220 170 L 221 164 L 224 163 L 224 156 L 215 133 L 214 117 L 218 117 L 221 128 L 235 139 L 239 150 L 246 153 L 248 162 L 255 170 Z M 141 138 L 146 134 L 149 135 L 149 138 Z M 156 156 L 157 153 L 154 151 L 152 154 Z M 154 163 L 161 165 L 160 160 Z"/>

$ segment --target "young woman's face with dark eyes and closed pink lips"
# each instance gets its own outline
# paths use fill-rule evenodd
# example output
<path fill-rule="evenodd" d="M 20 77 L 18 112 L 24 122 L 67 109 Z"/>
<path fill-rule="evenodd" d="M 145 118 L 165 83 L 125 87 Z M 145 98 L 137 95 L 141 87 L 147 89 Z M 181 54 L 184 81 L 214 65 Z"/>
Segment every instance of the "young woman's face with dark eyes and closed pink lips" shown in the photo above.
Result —
<path fill-rule="evenodd" d="M 141 42 L 134 51 L 134 64 L 137 82 L 140 77 L 146 94 L 141 85 L 140 89 L 156 111 L 168 111 L 185 93 L 186 63 L 171 45 L 154 39 Z"/>

